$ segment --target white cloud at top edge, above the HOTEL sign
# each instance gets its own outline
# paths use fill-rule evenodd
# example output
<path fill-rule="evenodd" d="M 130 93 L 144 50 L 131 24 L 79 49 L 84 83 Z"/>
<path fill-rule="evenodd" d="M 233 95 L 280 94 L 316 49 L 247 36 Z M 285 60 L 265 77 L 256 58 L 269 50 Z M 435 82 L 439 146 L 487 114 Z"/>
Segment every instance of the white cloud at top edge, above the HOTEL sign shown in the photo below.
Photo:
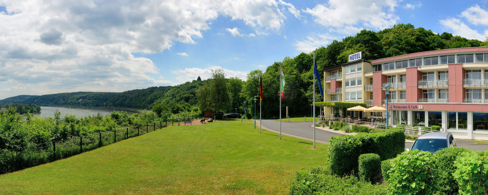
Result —
<path fill-rule="evenodd" d="M 324 26 L 344 27 L 358 23 L 374 29 L 385 29 L 399 20 L 394 15 L 396 0 L 329 0 L 314 8 L 302 10 Z M 385 10 L 386 9 L 386 10 Z"/>

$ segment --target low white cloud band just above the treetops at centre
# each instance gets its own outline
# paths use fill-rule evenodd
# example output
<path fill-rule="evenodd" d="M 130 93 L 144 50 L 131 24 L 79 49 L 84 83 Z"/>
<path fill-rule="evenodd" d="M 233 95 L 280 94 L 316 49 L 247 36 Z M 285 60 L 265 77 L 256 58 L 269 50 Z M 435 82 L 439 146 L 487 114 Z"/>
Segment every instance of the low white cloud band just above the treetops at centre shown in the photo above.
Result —
<path fill-rule="evenodd" d="M 174 70 L 171 71 L 173 74 L 176 75 L 176 79 L 178 82 L 184 82 L 184 81 L 191 81 L 195 80 L 198 77 L 204 79 L 208 79 L 212 77 L 212 70 L 222 68 L 220 66 L 211 66 L 208 68 L 185 68 L 183 70 Z M 228 70 L 224 69 L 224 74 L 225 78 L 231 78 L 231 77 L 237 77 L 240 78 L 241 80 L 246 80 L 247 79 L 247 72 L 243 71 L 234 71 L 234 70 Z"/>

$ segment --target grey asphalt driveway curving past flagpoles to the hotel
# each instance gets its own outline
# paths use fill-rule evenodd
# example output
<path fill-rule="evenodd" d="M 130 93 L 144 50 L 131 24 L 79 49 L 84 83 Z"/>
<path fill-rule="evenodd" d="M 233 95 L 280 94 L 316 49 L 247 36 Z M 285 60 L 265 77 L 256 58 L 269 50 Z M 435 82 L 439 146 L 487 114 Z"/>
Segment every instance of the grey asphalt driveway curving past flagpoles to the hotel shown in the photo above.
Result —
<path fill-rule="evenodd" d="M 282 122 L 281 125 L 282 125 L 281 127 L 282 134 L 293 136 L 293 137 L 299 137 L 306 140 L 313 139 L 313 128 L 311 127 L 312 122 Z M 279 121 L 263 120 L 262 126 L 266 129 L 278 133 L 280 132 Z M 328 140 L 330 140 L 330 137 L 341 136 L 341 135 L 342 134 L 315 129 L 315 141 L 320 143 L 328 144 Z M 412 144 L 413 143 L 411 142 L 405 142 L 405 147 L 411 148 Z M 469 150 L 484 151 L 487 150 L 488 148 L 488 144 L 475 144 L 474 141 L 464 140 L 464 139 L 457 139 L 456 144 L 458 147 L 467 148 Z"/>

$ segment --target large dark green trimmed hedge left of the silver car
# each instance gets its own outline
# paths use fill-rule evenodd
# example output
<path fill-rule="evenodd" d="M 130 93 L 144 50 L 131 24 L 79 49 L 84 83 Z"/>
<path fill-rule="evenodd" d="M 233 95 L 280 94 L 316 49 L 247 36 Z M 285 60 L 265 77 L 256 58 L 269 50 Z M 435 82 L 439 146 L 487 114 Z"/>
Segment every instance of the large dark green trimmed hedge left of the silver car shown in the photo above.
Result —
<path fill-rule="evenodd" d="M 331 137 L 328 147 L 331 171 L 344 176 L 357 173 L 361 154 L 374 153 L 381 160 L 395 157 L 405 150 L 405 134 L 402 129 L 375 130 L 373 133 L 359 133 L 355 136 Z"/>

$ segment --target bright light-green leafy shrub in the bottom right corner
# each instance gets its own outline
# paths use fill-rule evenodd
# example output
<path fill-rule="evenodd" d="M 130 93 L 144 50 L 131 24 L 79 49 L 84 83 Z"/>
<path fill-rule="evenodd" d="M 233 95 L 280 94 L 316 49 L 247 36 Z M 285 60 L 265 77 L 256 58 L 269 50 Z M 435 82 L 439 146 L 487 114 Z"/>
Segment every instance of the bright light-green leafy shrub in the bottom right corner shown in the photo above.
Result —
<path fill-rule="evenodd" d="M 452 174 L 459 184 L 459 194 L 488 194 L 488 152 L 469 151 L 454 161 Z"/>

